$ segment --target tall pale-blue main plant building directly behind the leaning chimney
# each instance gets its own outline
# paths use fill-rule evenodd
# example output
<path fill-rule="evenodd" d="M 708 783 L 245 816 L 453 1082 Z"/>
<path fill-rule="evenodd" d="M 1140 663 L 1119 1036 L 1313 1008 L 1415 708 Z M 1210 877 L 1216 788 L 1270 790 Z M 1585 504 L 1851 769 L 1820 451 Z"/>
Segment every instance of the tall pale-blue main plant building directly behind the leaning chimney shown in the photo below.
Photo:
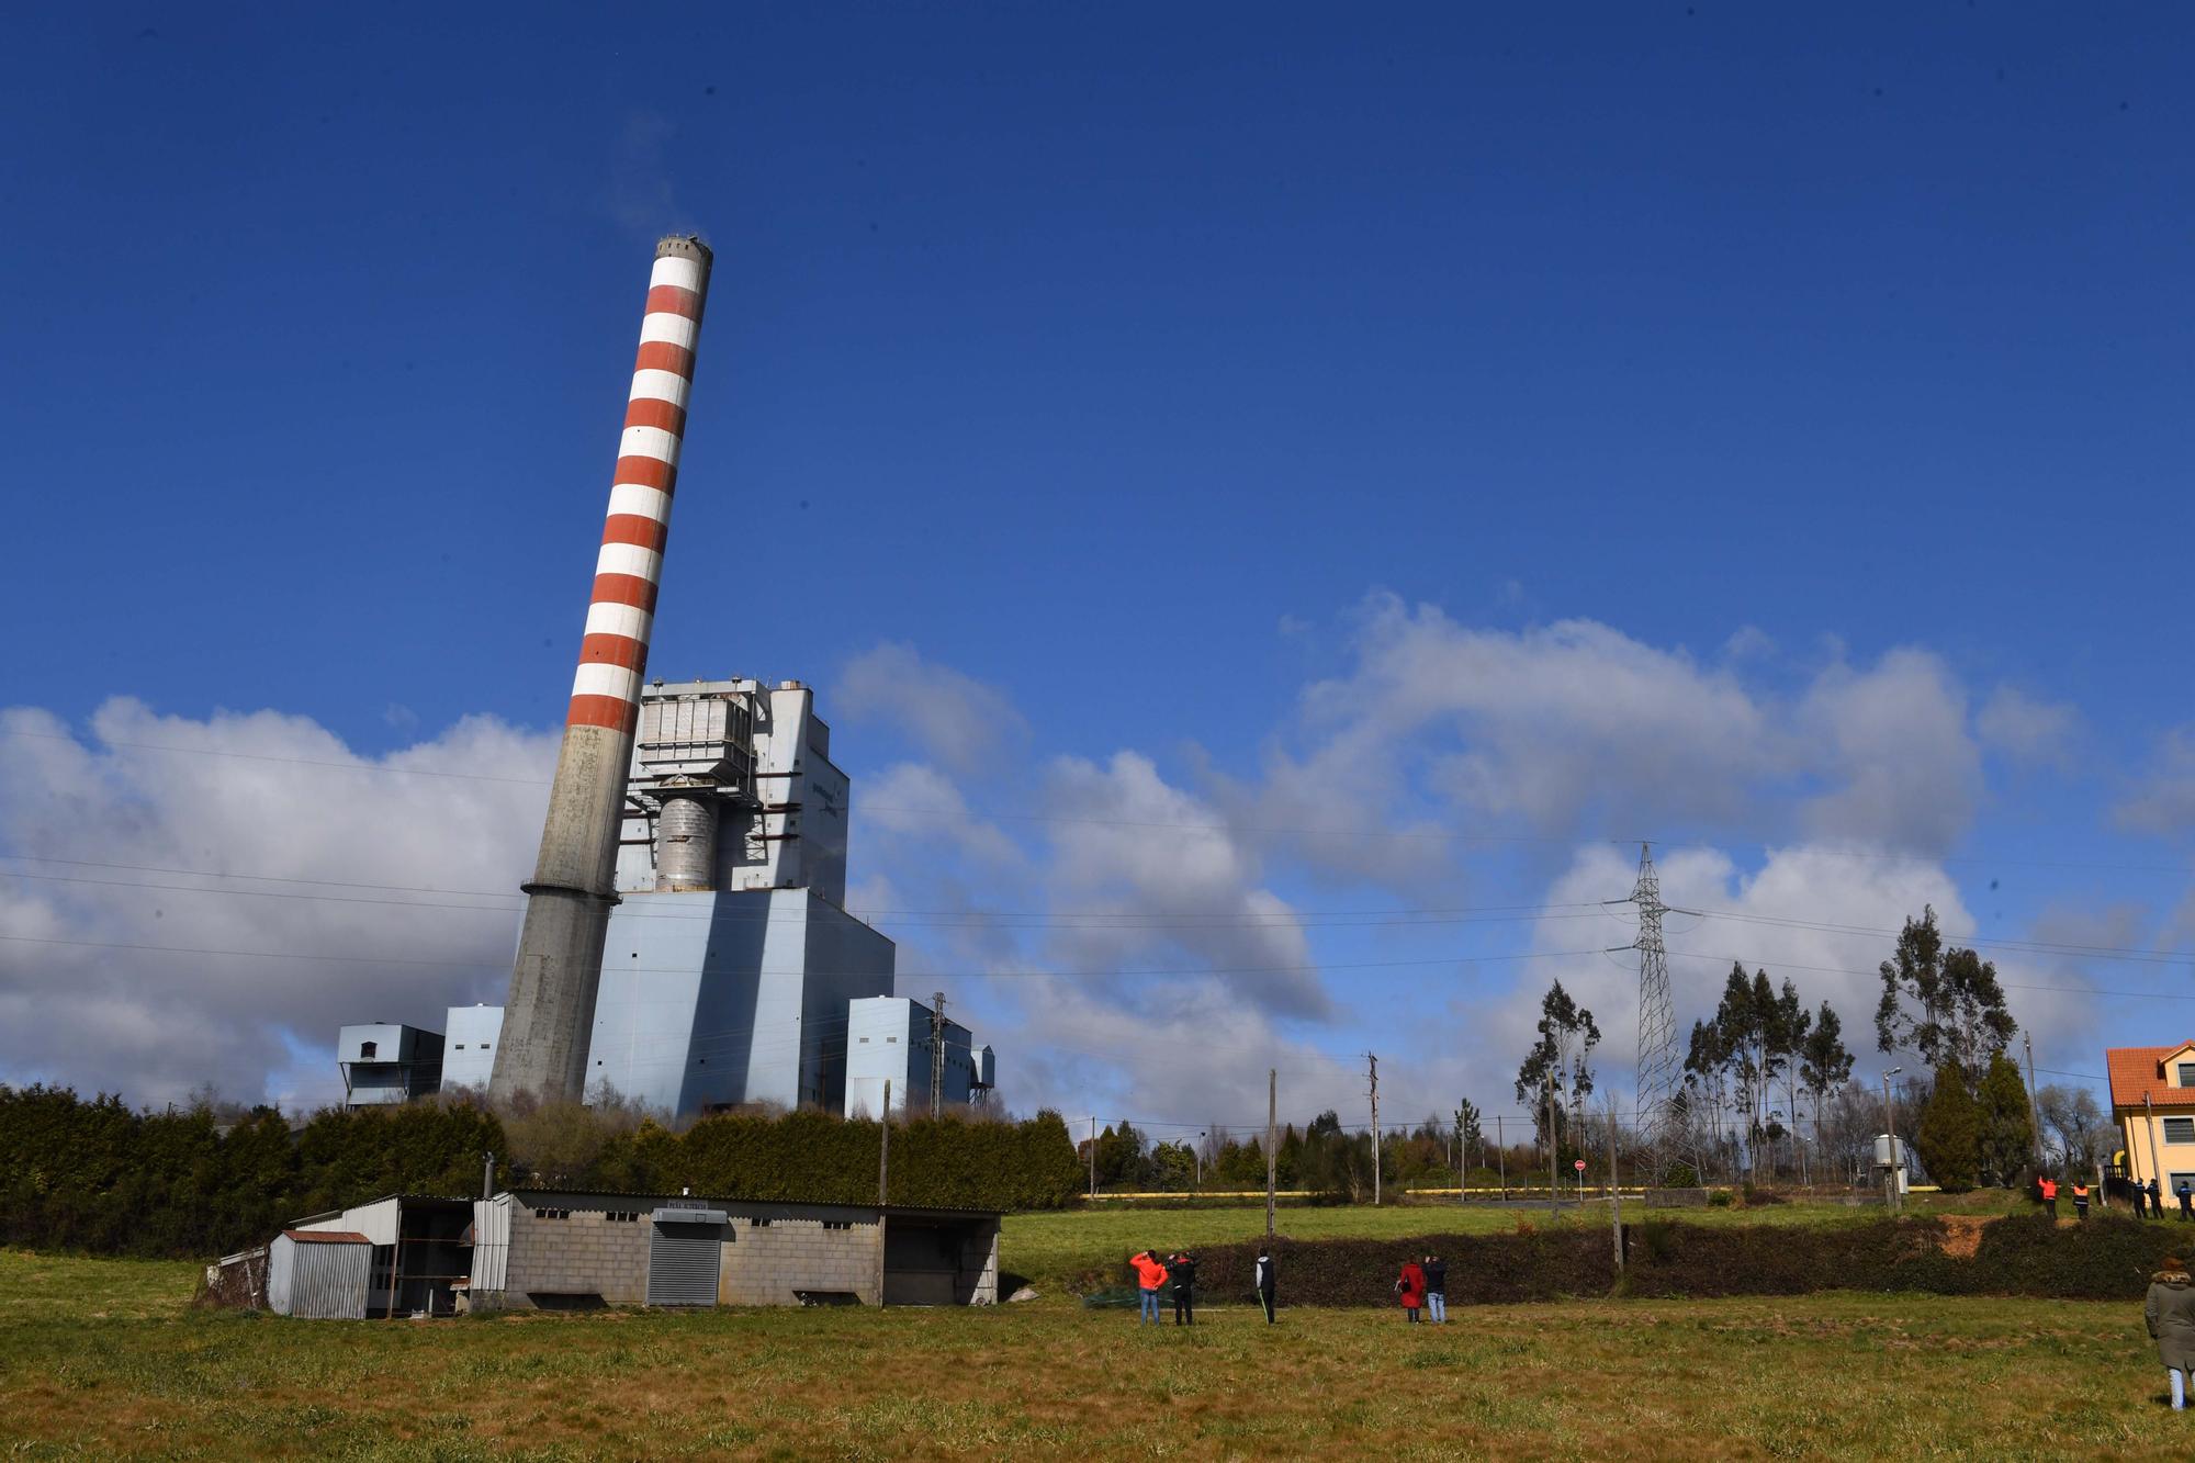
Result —
<path fill-rule="evenodd" d="M 799 681 L 641 692 L 586 1085 L 698 1114 L 845 1101 L 847 1002 L 893 945 L 845 912 L 847 778 Z"/>

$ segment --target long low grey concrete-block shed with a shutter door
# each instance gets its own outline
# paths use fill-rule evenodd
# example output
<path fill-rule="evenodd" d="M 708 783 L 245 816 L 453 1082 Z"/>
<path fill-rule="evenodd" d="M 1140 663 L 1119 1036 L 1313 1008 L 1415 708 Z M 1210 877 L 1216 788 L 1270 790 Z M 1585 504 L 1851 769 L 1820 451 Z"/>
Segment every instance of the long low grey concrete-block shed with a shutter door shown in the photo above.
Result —
<path fill-rule="evenodd" d="M 514 1191 L 474 1206 L 474 1307 L 994 1305 L 994 1210 Z"/>

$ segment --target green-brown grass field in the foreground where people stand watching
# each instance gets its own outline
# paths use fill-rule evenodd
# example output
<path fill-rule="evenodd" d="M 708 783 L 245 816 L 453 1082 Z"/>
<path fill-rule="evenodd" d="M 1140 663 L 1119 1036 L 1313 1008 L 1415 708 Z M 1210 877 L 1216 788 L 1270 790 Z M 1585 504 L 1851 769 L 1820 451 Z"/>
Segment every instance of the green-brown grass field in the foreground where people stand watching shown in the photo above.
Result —
<path fill-rule="evenodd" d="M 1262 1213 L 1194 1210 L 1214 1226 Z M 1405 1210 L 1407 1213 L 1407 1210 Z M 1335 1228 L 1394 1210 L 1295 1210 Z M 1016 1217 L 1008 1270 L 1119 1226 Z M 1754 1215 L 1760 1219 L 1763 1215 Z M 1084 1230 L 1073 1230 L 1080 1219 Z M 1826 1221 L 1822 1215 L 1785 1215 Z M 1730 1217 L 1736 1221 L 1736 1217 Z M 1354 1226 L 1354 1228 L 1352 1228 Z M 1284 1224 L 1315 1232 L 1308 1224 Z M 1240 1230 L 1214 1228 L 1212 1237 Z M 1194 1235 L 1141 1235 L 1144 1243 Z M 1126 1241 L 1135 1243 L 1135 1241 Z M 1058 1261 L 1038 1261 L 1038 1254 Z M 1087 1261 L 1076 1259 L 1087 1257 Z M 26 1459 L 2103 1459 L 2195 1454 L 2140 1309 L 1828 1294 L 1205 1314 L 608 1311 L 305 1322 L 187 1309 L 195 1265 L 0 1254 L 0 1452 Z"/>

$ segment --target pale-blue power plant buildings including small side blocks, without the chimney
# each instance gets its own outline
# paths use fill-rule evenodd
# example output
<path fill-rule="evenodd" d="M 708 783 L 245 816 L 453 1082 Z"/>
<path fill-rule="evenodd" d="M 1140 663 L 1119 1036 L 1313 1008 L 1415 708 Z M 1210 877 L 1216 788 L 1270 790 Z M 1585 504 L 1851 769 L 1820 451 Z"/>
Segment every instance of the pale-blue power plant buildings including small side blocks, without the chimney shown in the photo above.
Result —
<path fill-rule="evenodd" d="M 768 1103 L 878 1116 L 981 1103 L 997 1059 L 931 1006 L 891 995 L 889 938 L 843 909 L 847 775 L 799 681 L 641 692 L 617 898 L 588 1030 L 588 1094 L 676 1118 Z M 345 1026 L 345 1103 L 487 1087 L 500 1006 L 446 1030 Z"/>

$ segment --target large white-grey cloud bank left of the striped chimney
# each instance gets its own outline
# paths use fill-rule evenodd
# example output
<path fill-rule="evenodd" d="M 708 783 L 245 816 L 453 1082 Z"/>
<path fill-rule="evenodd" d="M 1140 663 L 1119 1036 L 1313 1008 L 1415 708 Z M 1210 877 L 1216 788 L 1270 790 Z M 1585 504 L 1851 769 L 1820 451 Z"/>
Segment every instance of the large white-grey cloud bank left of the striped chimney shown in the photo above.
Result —
<path fill-rule="evenodd" d="M 498 997 L 553 758 L 489 718 L 375 760 L 274 712 L 0 712 L 0 848 L 37 859 L 0 883 L 0 1079 L 257 1098 L 342 1021 Z"/>

